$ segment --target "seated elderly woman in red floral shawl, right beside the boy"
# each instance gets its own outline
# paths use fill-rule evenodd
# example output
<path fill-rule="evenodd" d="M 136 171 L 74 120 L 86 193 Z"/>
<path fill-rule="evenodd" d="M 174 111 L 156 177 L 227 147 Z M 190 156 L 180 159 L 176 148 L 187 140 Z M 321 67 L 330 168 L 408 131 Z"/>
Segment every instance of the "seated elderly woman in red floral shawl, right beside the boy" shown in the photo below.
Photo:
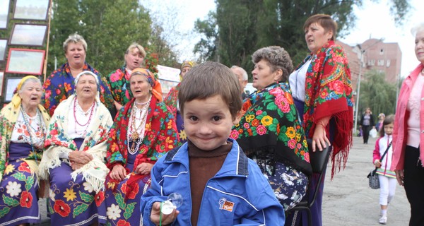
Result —
<path fill-rule="evenodd" d="M 177 126 L 161 102 L 160 83 L 147 69 L 134 69 L 130 95 L 114 119 L 107 141 L 106 206 L 111 225 L 139 225 L 139 201 L 150 188 L 153 164 L 177 146 Z"/>

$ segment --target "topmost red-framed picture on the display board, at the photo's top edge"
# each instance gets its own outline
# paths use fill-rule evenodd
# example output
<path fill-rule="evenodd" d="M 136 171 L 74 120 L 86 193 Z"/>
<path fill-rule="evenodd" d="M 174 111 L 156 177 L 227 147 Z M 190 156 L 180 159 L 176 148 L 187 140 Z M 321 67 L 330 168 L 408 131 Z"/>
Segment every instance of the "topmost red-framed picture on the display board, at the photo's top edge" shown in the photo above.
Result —
<path fill-rule="evenodd" d="M 16 0 L 13 19 L 47 20 L 49 0 Z"/>

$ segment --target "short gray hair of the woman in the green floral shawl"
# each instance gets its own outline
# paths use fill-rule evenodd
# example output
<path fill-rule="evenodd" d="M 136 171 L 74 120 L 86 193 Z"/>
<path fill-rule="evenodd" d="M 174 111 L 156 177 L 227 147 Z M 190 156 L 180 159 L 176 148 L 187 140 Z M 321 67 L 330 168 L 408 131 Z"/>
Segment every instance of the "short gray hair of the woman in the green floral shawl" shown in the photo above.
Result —
<path fill-rule="evenodd" d="M 288 80 L 288 76 L 293 71 L 293 62 L 290 55 L 283 47 L 270 46 L 258 49 L 252 54 L 253 64 L 257 64 L 262 59 L 268 61 L 268 65 L 271 67 L 271 71 L 277 71 L 281 69 L 283 75 L 281 81 L 285 82 Z"/>

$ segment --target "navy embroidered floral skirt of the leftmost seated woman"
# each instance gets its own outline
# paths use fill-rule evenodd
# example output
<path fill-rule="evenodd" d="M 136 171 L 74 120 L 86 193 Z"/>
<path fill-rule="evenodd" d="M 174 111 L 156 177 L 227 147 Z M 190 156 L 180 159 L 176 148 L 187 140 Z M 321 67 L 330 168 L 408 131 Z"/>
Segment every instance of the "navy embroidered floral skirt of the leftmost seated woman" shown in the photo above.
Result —
<path fill-rule="evenodd" d="M 0 225 L 20 225 L 40 222 L 37 203 L 37 177 L 26 162 L 31 146 L 11 143 L 8 165 L 0 183 Z"/>

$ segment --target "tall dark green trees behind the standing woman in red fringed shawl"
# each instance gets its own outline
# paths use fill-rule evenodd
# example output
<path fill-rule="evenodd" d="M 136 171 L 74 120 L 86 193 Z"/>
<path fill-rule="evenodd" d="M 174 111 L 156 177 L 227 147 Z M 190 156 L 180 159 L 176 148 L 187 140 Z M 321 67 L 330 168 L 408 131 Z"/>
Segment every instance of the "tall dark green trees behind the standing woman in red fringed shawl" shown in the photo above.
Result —
<path fill-rule="evenodd" d="M 410 7 L 408 0 L 391 0 L 390 4 L 396 22 L 401 23 L 401 16 Z M 236 64 L 250 71 L 254 51 L 278 45 L 288 51 L 296 65 L 309 53 L 303 31 L 305 20 L 317 13 L 329 14 L 338 23 L 338 36 L 343 37 L 355 24 L 354 6 L 362 6 L 362 1 L 216 0 L 216 17 L 196 22 L 195 29 L 203 33 L 204 39 L 194 51 L 206 60 L 218 59 L 227 66 Z M 211 32 L 216 30 L 215 34 Z"/>

